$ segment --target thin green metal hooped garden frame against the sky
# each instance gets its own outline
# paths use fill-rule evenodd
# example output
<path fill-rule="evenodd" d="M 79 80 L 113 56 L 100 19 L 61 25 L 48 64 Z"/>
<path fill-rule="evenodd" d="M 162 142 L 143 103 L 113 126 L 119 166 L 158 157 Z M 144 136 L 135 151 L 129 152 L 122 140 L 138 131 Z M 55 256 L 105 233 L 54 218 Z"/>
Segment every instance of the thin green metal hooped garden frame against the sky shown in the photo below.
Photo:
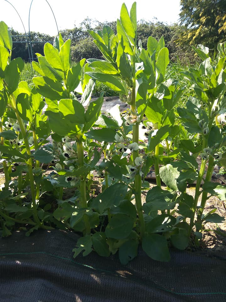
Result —
<path fill-rule="evenodd" d="M 25 35 L 17 35 L 17 36 L 12 36 L 12 37 L 24 36 L 24 37 L 26 38 L 26 41 L 18 41 L 18 42 L 17 42 L 17 41 L 14 41 L 14 43 L 24 43 L 24 42 L 27 43 L 29 60 L 30 60 L 30 63 L 32 63 L 32 61 L 34 61 L 34 58 L 33 58 L 33 51 L 32 51 L 32 43 L 37 42 L 37 41 L 31 41 L 31 36 L 30 36 L 30 12 L 31 12 L 31 6 L 32 6 L 32 3 L 33 3 L 34 0 L 31 0 L 30 8 L 29 8 L 29 16 L 28 16 L 28 34 L 27 34 L 26 30 L 25 30 L 24 23 L 23 23 L 23 21 L 22 21 L 20 15 L 19 15 L 19 13 L 18 13 L 18 11 L 16 10 L 16 8 L 15 8 L 15 7 L 13 6 L 13 4 L 10 3 L 8 0 L 4 0 L 4 1 L 8 2 L 8 3 L 14 8 L 14 10 L 15 10 L 16 13 L 18 14 L 19 19 L 20 19 L 20 21 L 21 21 L 21 23 L 22 23 L 22 25 L 23 25 L 23 28 L 24 28 L 24 33 L 25 33 Z M 58 33 L 58 35 L 59 35 L 59 30 L 58 30 L 56 18 L 55 18 L 55 15 L 54 15 L 54 13 L 53 13 L 53 10 L 52 10 L 52 8 L 51 8 L 51 5 L 49 4 L 49 2 L 48 2 L 47 0 L 45 0 L 45 1 L 46 1 L 46 3 L 49 5 L 49 7 L 50 7 L 50 9 L 51 9 L 51 12 L 52 12 L 52 14 L 53 14 L 53 17 L 54 17 L 54 20 L 55 20 L 55 23 L 56 23 L 57 33 Z M 43 43 L 46 43 L 46 42 L 49 42 L 49 41 L 43 41 Z M 31 64 L 31 68 L 32 68 L 32 64 Z"/>

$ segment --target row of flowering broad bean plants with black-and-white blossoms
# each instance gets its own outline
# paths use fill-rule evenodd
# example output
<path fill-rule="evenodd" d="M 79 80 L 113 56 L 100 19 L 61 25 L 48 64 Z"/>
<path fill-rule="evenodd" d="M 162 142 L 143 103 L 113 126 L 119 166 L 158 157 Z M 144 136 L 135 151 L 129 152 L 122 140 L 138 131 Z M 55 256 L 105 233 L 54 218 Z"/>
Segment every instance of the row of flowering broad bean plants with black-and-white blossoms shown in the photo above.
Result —
<path fill-rule="evenodd" d="M 207 47 L 194 48 L 203 62 L 183 75 L 196 98 L 177 108 L 183 88 L 166 77 L 164 38 L 149 37 L 147 49 L 137 41 L 136 3 L 130 12 L 122 4 L 116 34 L 106 25 L 89 34 L 103 59 L 72 66 L 71 42 L 59 35 L 54 45 L 44 45 L 44 56 L 36 54 L 39 76 L 29 87 L 19 81 L 24 62 L 11 60 L 12 38 L 0 22 L 2 235 L 18 224 L 27 235 L 57 227 L 83 235 L 74 257 L 118 252 L 126 264 L 141 245 L 152 259 L 169 261 L 170 245 L 198 245 L 205 222 L 224 221 L 215 210 L 203 211 L 210 196 L 225 200 L 226 193 L 211 182 L 214 165 L 225 166 L 226 158 L 226 43 L 218 45 L 214 60 Z M 101 114 L 103 94 L 91 99 L 96 80 L 118 92 L 129 109 L 121 112 L 116 105 Z M 52 167 L 50 174 L 44 165 Z M 150 189 L 146 176 L 152 166 L 156 186 Z M 103 179 L 97 196 L 94 173 Z M 193 197 L 186 188 L 194 182 Z M 67 187 L 76 189 L 69 199 Z M 43 196 L 53 192 L 55 202 L 46 202 Z"/>

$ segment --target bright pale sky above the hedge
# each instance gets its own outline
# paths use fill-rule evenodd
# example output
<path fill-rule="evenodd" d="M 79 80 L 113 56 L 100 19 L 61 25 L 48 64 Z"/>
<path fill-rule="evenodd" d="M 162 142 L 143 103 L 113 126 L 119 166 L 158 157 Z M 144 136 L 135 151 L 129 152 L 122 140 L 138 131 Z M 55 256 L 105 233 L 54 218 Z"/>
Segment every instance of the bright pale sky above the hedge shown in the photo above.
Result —
<path fill-rule="evenodd" d="M 128 11 L 134 0 L 124 0 Z M 137 20 L 178 22 L 180 0 L 137 0 Z M 15 9 L 18 11 L 16 13 Z M 123 0 L 0 0 L 0 21 L 19 32 L 41 32 L 51 36 L 58 30 L 72 29 L 86 17 L 103 21 L 116 21 L 120 17 Z M 51 7 L 51 8 L 50 8 Z M 51 12 L 51 9 L 55 15 Z M 22 25 L 22 22 L 24 27 Z M 57 26 L 56 26 L 57 23 Z"/>

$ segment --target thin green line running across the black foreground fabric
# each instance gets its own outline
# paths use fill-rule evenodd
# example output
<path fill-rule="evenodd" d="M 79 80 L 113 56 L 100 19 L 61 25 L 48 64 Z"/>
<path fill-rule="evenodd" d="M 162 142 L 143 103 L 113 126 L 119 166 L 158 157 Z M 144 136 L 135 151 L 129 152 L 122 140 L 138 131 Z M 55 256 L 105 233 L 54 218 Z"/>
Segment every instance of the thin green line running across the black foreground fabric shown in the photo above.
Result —
<path fill-rule="evenodd" d="M 119 273 L 115 273 L 113 271 L 107 271 L 107 270 L 103 270 L 103 269 L 100 269 L 100 268 L 95 268 L 93 266 L 89 266 L 87 264 L 82 264 L 82 263 L 79 263 L 79 262 L 76 262 L 70 258 L 64 258 L 64 257 L 60 257 L 60 256 L 56 256 L 56 255 L 53 255 L 53 254 L 49 254 L 49 253 L 46 253 L 46 252 L 29 252 L 29 253 L 5 253 L 5 254 L 0 254 L 0 256 L 4 256 L 4 255 L 28 255 L 28 254 L 46 254 L 46 255 L 49 255 L 49 256 L 52 256 L 52 257 L 55 257 L 55 258 L 59 258 L 59 259 L 62 259 L 62 260 L 69 260 L 75 264 L 78 264 L 78 265 L 81 265 L 81 266 L 85 266 L 85 267 L 89 267 L 93 270 L 96 270 L 96 271 L 104 271 L 104 272 L 108 272 L 108 273 L 111 273 L 111 274 L 114 274 L 114 275 L 117 275 L 117 276 L 120 276 L 120 277 L 123 277 L 123 278 L 126 278 L 125 276 L 122 276 L 120 275 Z M 161 289 L 161 290 L 164 290 L 165 292 L 169 292 L 169 293 L 172 293 L 172 294 L 177 294 L 177 295 L 195 295 L 195 296 L 198 296 L 198 295 L 216 295 L 216 294 L 222 294 L 222 295 L 226 295 L 226 293 L 223 293 L 223 292 L 211 292 L 211 293 L 178 293 L 178 292 L 174 292 L 172 290 L 168 290 L 168 289 L 165 289 L 165 288 L 161 288 L 161 287 L 158 287 L 156 286 L 156 288 L 158 289 Z"/>

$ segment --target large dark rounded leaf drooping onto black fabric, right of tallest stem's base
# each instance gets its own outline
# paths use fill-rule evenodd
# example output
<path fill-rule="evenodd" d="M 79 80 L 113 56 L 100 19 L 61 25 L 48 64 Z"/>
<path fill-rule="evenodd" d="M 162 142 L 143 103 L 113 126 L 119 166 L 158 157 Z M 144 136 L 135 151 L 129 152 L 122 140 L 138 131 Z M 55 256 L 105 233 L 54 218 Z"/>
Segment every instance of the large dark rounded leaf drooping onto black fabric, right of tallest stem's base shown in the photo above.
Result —
<path fill-rule="evenodd" d="M 157 261 L 169 261 L 170 252 L 165 237 L 159 234 L 145 234 L 142 239 L 142 248 L 145 253 Z"/>

